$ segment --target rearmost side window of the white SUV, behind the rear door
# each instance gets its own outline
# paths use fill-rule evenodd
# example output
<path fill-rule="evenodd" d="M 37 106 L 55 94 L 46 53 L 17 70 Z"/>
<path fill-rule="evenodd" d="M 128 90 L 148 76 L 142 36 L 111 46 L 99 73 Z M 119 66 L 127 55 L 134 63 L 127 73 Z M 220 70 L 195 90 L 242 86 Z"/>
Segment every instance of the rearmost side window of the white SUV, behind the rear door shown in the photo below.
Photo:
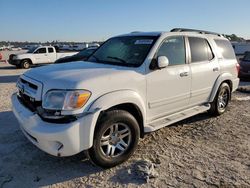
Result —
<path fill-rule="evenodd" d="M 235 59 L 235 53 L 228 40 L 214 40 L 224 59 Z"/>

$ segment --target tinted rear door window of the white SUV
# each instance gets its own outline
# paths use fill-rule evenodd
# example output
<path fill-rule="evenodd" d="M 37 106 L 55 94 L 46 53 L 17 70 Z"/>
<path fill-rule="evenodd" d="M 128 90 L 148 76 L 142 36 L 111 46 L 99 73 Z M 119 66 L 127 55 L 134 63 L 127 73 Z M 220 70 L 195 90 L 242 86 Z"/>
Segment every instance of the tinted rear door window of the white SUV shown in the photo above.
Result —
<path fill-rule="evenodd" d="M 188 40 L 190 45 L 192 63 L 211 61 L 214 58 L 212 49 L 206 39 L 188 37 Z"/>

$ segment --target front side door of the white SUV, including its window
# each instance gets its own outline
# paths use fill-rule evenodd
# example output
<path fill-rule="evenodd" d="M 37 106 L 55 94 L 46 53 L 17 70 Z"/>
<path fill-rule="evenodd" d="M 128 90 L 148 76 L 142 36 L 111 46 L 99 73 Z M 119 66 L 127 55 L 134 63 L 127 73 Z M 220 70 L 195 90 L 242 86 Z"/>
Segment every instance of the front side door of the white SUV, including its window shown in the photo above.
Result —
<path fill-rule="evenodd" d="M 187 108 L 190 99 L 191 75 L 186 62 L 183 36 L 168 37 L 155 54 L 166 56 L 169 66 L 147 75 L 147 121 L 164 117 Z"/>

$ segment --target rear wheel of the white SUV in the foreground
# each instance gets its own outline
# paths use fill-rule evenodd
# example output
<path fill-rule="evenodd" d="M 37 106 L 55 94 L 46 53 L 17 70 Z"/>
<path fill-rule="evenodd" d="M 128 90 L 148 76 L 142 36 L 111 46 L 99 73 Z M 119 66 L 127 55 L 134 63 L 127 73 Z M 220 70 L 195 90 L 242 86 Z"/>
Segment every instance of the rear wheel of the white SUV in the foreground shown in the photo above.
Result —
<path fill-rule="evenodd" d="M 217 91 L 214 101 L 211 103 L 209 113 L 214 116 L 223 114 L 229 104 L 231 90 L 227 83 L 222 83 Z"/>

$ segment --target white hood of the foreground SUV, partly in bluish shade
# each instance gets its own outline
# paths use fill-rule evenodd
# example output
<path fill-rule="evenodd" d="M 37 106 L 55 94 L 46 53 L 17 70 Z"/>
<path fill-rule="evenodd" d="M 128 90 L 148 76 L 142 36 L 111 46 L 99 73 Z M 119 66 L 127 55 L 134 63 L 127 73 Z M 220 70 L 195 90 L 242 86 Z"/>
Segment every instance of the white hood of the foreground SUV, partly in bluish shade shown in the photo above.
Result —
<path fill-rule="evenodd" d="M 112 90 L 128 89 L 129 86 L 136 84 L 138 79 L 144 78 L 136 68 L 83 61 L 33 68 L 24 75 L 42 82 L 44 91 L 96 88 L 108 90 L 110 86 L 113 86 Z"/>

